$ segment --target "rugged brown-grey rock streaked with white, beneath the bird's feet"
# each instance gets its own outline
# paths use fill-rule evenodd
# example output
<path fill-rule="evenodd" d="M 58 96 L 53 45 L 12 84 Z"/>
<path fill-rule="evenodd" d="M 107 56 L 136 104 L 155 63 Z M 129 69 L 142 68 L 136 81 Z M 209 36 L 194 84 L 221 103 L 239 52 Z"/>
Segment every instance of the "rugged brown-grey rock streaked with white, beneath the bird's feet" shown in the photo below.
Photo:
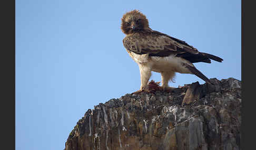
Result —
<path fill-rule="evenodd" d="M 240 149 L 241 81 L 126 94 L 94 106 L 70 133 L 75 149 Z"/>

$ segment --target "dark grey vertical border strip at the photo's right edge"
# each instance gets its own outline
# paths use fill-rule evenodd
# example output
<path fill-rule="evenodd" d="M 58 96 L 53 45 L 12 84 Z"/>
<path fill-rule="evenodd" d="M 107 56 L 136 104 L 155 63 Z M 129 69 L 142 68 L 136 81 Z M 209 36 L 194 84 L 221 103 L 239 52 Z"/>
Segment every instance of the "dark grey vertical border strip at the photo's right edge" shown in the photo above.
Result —
<path fill-rule="evenodd" d="M 247 3 L 245 3 L 247 2 Z M 255 149 L 255 5 L 241 1 L 242 124 L 241 149 Z M 246 14 L 246 15 L 245 15 Z M 246 17 L 245 17 L 246 16 Z M 246 20 L 246 22 L 245 22 Z"/>

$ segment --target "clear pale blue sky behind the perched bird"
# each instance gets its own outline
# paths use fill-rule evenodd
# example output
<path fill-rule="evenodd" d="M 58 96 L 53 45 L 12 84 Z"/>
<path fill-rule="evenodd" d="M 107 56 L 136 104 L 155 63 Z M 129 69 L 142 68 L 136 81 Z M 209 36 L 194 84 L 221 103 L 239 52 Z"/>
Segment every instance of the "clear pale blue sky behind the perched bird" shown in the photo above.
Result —
<path fill-rule="evenodd" d="M 64 149 L 94 105 L 140 88 L 123 47 L 123 14 L 224 59 L 195 63 L 208 78 L 241 80 L 241 1 L 16 1 L 16 149 Z M 160 81 L 159 73 L 151 79 Z M 199 81 L 176 74 L 172 87 Z"/>

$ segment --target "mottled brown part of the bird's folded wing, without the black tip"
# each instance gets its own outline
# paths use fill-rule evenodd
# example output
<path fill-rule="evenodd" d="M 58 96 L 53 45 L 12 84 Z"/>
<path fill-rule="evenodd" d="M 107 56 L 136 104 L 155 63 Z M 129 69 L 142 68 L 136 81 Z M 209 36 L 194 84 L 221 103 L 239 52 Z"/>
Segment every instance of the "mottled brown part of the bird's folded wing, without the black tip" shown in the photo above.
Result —
<path fill-rule="evenodd" d="M 184 41 L 174 40 L 157 31 L 129 35 L 123 39 L 123 44 L 127 50 L 138 54 L 149 53 L 151 56 L 169 56 L 184 52 L 198 53 L 198 50 Z"/>

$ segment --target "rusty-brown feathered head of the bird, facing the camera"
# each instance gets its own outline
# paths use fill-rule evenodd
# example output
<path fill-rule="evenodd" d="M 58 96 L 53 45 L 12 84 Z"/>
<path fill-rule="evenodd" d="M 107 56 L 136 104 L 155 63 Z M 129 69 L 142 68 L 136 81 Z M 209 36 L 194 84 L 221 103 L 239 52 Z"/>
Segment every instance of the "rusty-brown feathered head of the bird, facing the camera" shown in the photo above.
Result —
<path fill-rule="evenodd" d="M 124 34 L 129 35 L 137 31 L 150 29 L 149 21 L 139 10 L 127 12 L 122 17 L 121 29 Z"/>

